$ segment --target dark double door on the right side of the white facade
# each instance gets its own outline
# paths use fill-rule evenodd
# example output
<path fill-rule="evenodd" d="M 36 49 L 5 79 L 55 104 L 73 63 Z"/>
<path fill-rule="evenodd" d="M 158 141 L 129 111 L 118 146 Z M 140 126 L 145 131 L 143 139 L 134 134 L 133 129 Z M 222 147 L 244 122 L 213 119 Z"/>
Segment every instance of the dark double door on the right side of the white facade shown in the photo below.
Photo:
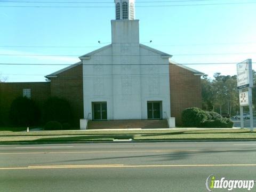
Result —
<path fill-rule="evenodd" d="M 161 119 L 162 118 L 162 102 L 161 101 L 148 101 L 148 119 Z"/>

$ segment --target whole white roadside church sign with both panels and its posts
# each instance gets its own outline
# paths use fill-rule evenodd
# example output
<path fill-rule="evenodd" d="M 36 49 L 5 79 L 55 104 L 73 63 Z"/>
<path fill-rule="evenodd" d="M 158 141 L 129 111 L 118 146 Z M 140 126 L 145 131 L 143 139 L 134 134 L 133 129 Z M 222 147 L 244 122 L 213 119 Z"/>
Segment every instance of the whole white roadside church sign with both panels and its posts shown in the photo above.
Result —
<path fill-rule="evenodd" d="M 252 60 L 247 59 L 237 64 L 237 89 L 239 90 L 241 128 L 244 128 L 243 106 L 249 106 L 251 131 L 253 131 L 252 87 Z"/>

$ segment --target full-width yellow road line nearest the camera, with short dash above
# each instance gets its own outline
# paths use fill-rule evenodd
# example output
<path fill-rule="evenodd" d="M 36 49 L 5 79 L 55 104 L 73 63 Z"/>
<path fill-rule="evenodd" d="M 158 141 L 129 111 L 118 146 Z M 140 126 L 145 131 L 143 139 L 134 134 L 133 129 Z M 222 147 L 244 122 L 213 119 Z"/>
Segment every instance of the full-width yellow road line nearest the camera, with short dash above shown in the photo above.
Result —
<path fill-rule="evenodd" d="M 217 166 L 256 166 L 256 164 L 209 164 L 209 165 L 44 165 L 28 167 L 0 167 L 0 170 L 25 170 L 25 169 L 75 169 L 75 168 L 140 168 L 140 167 L 217 167 Z"/>

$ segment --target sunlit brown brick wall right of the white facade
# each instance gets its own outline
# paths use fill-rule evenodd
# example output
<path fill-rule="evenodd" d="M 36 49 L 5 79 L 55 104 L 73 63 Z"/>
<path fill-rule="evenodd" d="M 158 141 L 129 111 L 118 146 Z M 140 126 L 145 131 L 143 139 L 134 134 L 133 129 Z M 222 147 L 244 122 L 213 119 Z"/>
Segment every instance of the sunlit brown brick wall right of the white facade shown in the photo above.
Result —
<path fill-rule="evenodd" d="M 171 117 L 181 125 L 181 113 L 188 107 L 202 108 L 201 76 L 177 65 L 170 65 Z"/>

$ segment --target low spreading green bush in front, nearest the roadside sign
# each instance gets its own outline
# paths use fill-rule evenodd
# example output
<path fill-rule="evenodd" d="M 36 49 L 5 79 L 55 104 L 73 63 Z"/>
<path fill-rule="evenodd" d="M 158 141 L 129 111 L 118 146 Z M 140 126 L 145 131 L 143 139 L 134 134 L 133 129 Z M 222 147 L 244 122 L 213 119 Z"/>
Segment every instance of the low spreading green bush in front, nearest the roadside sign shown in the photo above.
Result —
<path fill-rule="evenodd" d="M 232 128 L 234 122 L 230 121 L 228 118 L 221 118 L 215 120 L 207 120 L 201 126 L 209 128 Z"/>

